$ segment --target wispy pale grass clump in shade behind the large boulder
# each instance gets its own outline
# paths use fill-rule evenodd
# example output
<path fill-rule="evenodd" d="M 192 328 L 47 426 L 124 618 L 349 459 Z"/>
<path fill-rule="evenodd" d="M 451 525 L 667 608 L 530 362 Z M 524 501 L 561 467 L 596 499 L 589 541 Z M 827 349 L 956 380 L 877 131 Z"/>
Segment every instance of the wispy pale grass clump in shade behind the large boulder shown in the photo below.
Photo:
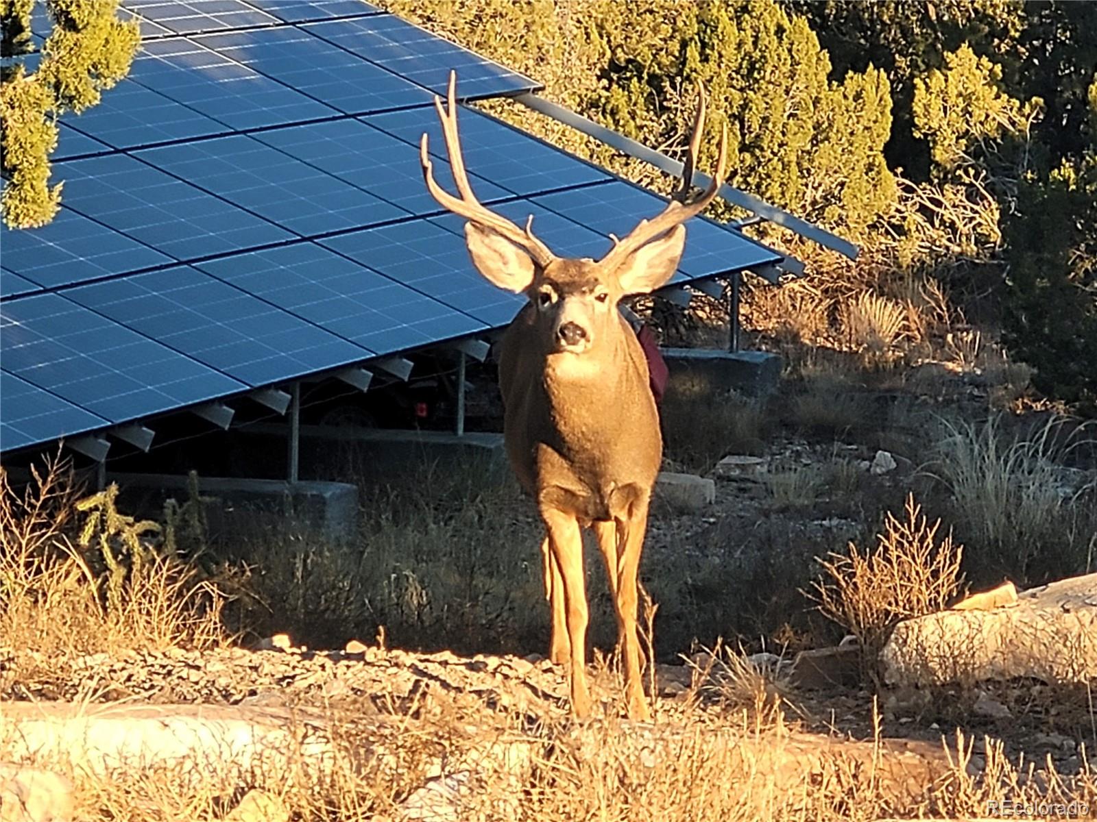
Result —
<path fill-rule="evenodd" d="M 1087 426 L 1049 416 L 1032 433 L 1010 436 L 997 415 L 940 425 L 924 470 L 949 495 L 972 576 L 1037 584 L 1092 570 L 1097 482 L 1064 465 L 1076 448 L 1093 446 Z"/>

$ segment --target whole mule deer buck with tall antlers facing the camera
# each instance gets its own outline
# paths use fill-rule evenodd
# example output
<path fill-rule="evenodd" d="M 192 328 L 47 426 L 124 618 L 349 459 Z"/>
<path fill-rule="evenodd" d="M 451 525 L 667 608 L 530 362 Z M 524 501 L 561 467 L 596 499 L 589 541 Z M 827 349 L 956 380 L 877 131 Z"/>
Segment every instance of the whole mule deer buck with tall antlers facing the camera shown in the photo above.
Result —
<path fill-rule="evenodd" d="M 460 196 L 436 182 L 425 134 L 419 158 L 427 189 L 467 220 L 465 243 L 476 270 L 499 288 L 529 298 L 504 334 L 499 386 L 507 455 L 545 526 L 541 549 L 552 603 L 551 658 L 570 666 L 572 709 L 586 716 L 591 703 L 581 532 L 590 527 L 617 610 L 629 716 L 648 719 L 636 638 L 636 572 L 663 439 L 647 363 L 618 302 L 652 292 L 674 275 L 686 242 L 682 224 L 713 201 L 723 179 L 727 132 L 712 183 L 686 204 L 704 127 L 702 90 L 675 199 L 629 236 L 611 235 L 612 248 L 596 262 L 556 256 L 533 233 L 532 216 L 522 229 L 476 199 L 461 153 L 452 73 L 446 103 L 443 107 L 434 99 Z"/>

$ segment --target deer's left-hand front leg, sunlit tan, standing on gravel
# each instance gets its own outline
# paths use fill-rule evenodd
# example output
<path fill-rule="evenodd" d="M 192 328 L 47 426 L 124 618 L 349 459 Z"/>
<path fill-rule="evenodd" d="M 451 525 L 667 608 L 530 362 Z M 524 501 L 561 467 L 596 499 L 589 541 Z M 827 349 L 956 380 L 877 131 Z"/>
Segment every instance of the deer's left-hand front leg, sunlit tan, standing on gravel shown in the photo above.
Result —
<path fill-rule="evenodd" d="M 578 521 L 558 511 L 542 511 L 552 557 L 563 580 L 567 637 L 570 644 L 572 712 L 590 713 L 587 688 L 587 591 L 583 569 L 583 534 Z"/>

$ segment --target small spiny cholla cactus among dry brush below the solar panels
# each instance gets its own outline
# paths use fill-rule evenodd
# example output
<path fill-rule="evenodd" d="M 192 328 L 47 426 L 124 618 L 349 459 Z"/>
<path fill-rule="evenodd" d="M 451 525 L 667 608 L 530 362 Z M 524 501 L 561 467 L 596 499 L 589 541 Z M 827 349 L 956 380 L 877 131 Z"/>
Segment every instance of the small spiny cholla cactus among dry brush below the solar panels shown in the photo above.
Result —
<path fill-rule="evenodd" d="M 156 559 L 155 549 L 142 537 L 160 533 L 160 526 L 150 520 L 137 521 L 120 514 L 115 504 L 117 496 L 118 487 L 112 482 L 105 490 L 76 503 L 76 510 L 88 516 L 80 532 L 80 545 L 89 548 L 94 540 L 106 564 L 109 612 L 117 612 L 122 607 L 122 590 L 127 572 L 131 579 L 137 579 L 146 561 Z M 125 561 L 127 556 L 128 563 Z"/>

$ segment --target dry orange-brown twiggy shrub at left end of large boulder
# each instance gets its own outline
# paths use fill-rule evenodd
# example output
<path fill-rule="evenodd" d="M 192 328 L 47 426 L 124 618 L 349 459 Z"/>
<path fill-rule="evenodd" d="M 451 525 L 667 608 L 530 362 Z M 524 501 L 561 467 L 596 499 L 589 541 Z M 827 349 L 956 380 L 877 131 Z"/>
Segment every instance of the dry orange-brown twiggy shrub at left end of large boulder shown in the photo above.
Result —
<path fill-rule="evenodd" d="M 824 616 L 857 637 L 866 659 L 875 659 L 897 623 L 948 607 L 963 585 L 963 548 L 951 534 L 938 538 L 940 520 L 929 523 L 913 494 L 904 514 L 887 514 L 875 548 L 850 543 L 846 553 L 819 558 L 823 578 L 808 593 Z"/>

